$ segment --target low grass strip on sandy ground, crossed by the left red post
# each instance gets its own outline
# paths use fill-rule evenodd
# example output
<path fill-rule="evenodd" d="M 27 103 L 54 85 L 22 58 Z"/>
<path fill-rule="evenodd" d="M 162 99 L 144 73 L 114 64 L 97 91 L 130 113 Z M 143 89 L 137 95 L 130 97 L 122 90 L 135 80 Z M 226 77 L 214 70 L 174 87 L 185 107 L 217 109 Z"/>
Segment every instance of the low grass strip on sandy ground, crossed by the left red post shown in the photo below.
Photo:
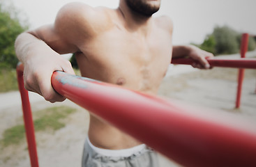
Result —
<path fill-rule="evenodd" d="M 48 109 L 37 111 L 34 115 L 34 128 L 35 131 L 45 131 L 46 129 L 58 130 L 65 127 L 65 123 L 61 121 L 71 113 L 74 113 L 76 109 L 68 106 L 58 106 Z M 0 143 L 3 146 L 19 144 L 25 137 L 24 125 L 15 125 L 3 132 L 3 138 Z"/>

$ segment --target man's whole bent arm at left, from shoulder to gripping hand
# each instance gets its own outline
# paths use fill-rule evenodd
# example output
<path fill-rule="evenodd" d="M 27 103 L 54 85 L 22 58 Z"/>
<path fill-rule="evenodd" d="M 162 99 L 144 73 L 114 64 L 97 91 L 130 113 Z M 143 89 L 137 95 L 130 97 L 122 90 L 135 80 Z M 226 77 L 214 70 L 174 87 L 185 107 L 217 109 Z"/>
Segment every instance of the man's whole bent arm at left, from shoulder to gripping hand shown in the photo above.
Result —
<path fill-rule="evenodd" d="M 54 24 L 24 32 L 17 37 L 15 51 L 17 58 L 24 64 L 24 86 L 27 90 L 42 95 L 50 102 L 65 100 L 52 88 L 52 72 L 61 70 L 74 74 L 70 62 L 60 54 L 80 51 L 78 46 L 81 45 L 81 38 L 90 35 L 86 25 L 81 25 L 86 24 L 86 15 L 80 15 L 92 12 L 89 6 L 70 3 L 61 8 Z"/>

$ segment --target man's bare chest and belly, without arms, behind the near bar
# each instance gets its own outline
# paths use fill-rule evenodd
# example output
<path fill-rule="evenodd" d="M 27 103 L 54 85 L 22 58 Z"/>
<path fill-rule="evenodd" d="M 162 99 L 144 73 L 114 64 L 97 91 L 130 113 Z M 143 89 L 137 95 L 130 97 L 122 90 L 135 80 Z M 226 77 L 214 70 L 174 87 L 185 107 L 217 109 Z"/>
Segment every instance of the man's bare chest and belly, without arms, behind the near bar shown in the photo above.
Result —
<path fill-rule="evenodd" d="M 119 10 L 107 10 L 111 23 L 81 48 L 77 63 L 84 77 L 156 94 L 172 57 L 170 32 L 152 19 L 149 32 L 128 30 Z M 132 122 L 131 122 L 132 123 Z M 107 149 L 130 148 L 140 142 L 91 116 L 91 142 Z"/>

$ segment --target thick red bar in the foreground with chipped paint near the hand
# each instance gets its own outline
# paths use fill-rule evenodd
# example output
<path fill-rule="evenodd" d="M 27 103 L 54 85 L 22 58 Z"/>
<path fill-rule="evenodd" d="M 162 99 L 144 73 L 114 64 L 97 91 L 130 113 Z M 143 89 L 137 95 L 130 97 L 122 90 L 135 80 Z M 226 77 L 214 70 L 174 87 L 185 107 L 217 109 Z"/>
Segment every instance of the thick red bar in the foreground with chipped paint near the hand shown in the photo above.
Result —
<path fill-rule="evenodd" d="M 256 166 L 256 126 L 111 84 L 54 72 L 58 93 L 183 166 Z M 205 118 L 207 117 L 208 118 Z"/>

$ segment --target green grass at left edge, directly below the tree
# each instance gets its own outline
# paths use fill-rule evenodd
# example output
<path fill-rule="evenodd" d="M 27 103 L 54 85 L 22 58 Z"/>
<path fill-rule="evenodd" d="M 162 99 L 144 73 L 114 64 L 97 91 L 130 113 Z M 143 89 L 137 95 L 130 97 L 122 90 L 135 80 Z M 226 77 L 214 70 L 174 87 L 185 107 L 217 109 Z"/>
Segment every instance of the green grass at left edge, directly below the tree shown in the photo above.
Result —
<path fill-rule="evenodd" d="M 15 69 L 0 68 L 0 93 L 18 90 L 16 76 Z"/>

